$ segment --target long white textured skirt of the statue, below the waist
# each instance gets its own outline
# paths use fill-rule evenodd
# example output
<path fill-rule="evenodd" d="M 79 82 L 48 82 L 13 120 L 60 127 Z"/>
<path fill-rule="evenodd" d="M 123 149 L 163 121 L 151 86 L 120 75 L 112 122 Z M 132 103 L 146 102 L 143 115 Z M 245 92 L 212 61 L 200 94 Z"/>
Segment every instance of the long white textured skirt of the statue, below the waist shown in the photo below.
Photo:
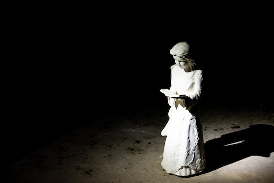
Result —
<path fill-rule="evenodd" d="M 179 105 L 169 111 L 170 119 L 161 132 L 167 136 L 161 165 L 169 174 L 189 176 L 205 168 L 202 125 L 198 116 Z"/>

